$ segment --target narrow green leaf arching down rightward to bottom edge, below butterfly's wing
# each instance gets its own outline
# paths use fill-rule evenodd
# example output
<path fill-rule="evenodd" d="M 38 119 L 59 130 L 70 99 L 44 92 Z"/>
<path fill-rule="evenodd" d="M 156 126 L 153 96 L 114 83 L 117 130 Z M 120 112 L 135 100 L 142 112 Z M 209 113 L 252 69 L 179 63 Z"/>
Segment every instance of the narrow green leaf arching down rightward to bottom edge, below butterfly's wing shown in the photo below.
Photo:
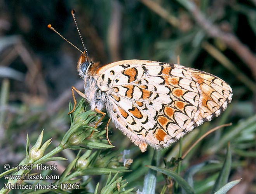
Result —
<path fill-rule="evenodd" d="M 160 168 L 157 166 L 148 166 L 148 167 L 153 170 L 156 170 L 160 173 L 163 173 L 169 177 L 172 177 L 176 182 L 178 182 L 179 186 L 181 186 L 186 191 L 186 193 L 188 193 L 188 194 L 194 193 L 192 187 L 190 187 L 190 185 L 181 176 L 179 176 L 176 172 L 166 169 L 166 168 Z"/>

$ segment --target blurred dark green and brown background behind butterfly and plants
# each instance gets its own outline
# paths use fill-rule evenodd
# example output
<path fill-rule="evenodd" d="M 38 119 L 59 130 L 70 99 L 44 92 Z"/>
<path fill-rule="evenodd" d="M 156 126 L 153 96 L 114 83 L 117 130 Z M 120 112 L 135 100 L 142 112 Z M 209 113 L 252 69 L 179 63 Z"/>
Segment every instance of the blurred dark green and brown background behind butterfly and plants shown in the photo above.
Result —
<path fill-rule="evenodd" d="M 229 193 L 256 193 L 255 0 L 0 0 L 1 172 L 3 164 L 16 166 L 24 158 L 26 133 L 35 142 L 44 128 L 44 138 L 53 137 L 53 145 L 57 145 L 69 128 L 71 86 L 83 90 L 76 70 L 80 52 L 47 25 L 52 24 L 83 50 L 72 9 L 94 61 L 108 64 L 147 59 L 176 63 L 179 55 L 180 64 L 214 74 L 230 85 L 233 100 L 228 109 L 187 135 L 184 150 L 211 128 L 230 122 L 233 125 L 197 144 L 183 160 L 181 170 L 210 159 L 223 163 L 230 141 L 229 180 L 243 179 L 236 186 L 240 190 Z M 127 187 L 142 190 L 148 171 L 145 165 L 152 151 L 141 154 L 116 129 L 109 136 L 116 146 L 113 150 L 131 150 L 131 169 L 136 173 L 123 176 L 129 182 Z M 163 158 L 177 158 L 178 146 L 174 143 L 159 151 L 162 165 Z M 76 152 L 62 154 L 73 159 Z M 67 163 L 61 164 L 63 168 Z M 209 191 L 220 168 L 206 165 L 195 175 L 195 180 L 201 181 L 196 193 Z M 206 183 L 202 181 L 210 177 L 209 187 L 203 188 Z M 0 180 L 1 185 L 5 182 Z M 163 178 L 157 180 L 157 193 L 164 184 Z"/>

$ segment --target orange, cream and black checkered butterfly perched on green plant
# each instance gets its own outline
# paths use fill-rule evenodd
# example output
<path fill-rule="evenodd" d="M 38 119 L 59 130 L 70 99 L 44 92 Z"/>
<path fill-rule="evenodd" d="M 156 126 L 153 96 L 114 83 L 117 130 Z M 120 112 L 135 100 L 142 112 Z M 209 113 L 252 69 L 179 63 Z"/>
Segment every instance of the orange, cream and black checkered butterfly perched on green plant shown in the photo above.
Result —
<path fill-rule="evenodd" d="M 74 11 L 72 15 L 75 21 Z M 50 24 L 48 27 L 56 31 Z M 98 123 L 106 110 L 116 128 L 141 152 L 148 144 L 154 149 L 169 147 L 219 116 L 232 100 L 232 88 L 225 81 L 179 64 L 125 60 L 101 65 L 85 49 L 77 71 L 84 80 L 84 93 L 72 87 L 75 104 L 74 90 L 103 115 Z M 71 112 L 74 110 L 75 105 Z"/>

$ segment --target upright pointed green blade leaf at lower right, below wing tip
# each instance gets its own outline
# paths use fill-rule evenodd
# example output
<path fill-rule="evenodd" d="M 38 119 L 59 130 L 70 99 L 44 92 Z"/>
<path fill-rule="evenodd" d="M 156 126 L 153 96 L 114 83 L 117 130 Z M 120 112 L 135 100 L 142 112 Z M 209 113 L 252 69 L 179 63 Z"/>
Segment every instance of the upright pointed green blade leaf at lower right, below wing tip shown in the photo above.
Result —
<path fill-rule="evenodd" d="M 217 191 L 219 188 L 223 187 L 228 182 L 228 177 L 229 177 L 230 168 L 231 168 L 231 159 L 232 159 L 232 157 L 231 157 L 231 151 L 230 151 L 230 143 L 228 143 L 224 164 L 223 164 L 222 169 L 219 173 L 219 176 L 212 188 L 211 193 L 214 193 L 215 191 Z"/>

